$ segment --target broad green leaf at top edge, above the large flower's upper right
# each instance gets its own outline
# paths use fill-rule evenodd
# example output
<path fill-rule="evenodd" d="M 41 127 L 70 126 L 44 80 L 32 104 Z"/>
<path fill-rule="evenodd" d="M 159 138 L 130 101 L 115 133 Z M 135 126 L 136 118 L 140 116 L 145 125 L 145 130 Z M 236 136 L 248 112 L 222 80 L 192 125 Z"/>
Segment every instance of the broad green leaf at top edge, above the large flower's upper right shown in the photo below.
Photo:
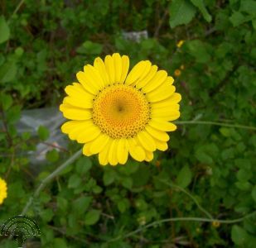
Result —
<path fill-rule="evenodd" d="M 187 0 L 173 0 L 170 8 L 171 28 L 182 24 L 188 24 L 196 14 L 196 7 Z"/>

